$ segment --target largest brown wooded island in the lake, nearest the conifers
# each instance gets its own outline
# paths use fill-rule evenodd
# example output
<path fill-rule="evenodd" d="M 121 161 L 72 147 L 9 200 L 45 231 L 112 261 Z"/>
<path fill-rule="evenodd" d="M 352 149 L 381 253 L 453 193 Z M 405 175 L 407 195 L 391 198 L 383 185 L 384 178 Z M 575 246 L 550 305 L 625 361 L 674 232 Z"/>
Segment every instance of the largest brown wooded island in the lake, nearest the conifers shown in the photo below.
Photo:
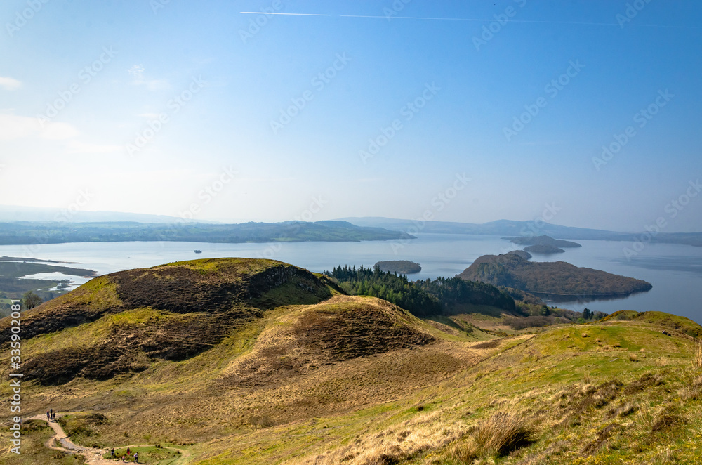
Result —
<path fill-rule="evenodd" d="M 651 289 L 651 284 L 632 277 L 564 261 L 530 262 L 515 254 L 484 255 L 458 275 L 465 280 L 514 287 L 543 296 L 626 296 Z"/>

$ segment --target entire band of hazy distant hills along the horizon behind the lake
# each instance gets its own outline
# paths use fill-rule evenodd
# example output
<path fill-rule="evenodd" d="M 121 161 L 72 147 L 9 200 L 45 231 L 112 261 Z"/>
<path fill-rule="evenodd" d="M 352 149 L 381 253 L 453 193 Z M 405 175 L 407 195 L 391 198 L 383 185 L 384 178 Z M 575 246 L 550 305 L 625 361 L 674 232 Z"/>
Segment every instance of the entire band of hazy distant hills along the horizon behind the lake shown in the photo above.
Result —
<path fill-rule="evenodd" d="M 186 223 L 187 228 L 182 228 L 183 219 L 175 216 L 134 214 L 121 211 L 76 211 L 67 209 L 40 209 L 32 207 L 12 207 L 0 205 L 0 244 L 29 243 L 13 242 L 8 238 L 8 232 L 13 230 L 18 235 L 32 235 L 44 233 L 49 230 L 62 230 L 63 232 L 77 228 L 79 232 L 86 232 L 88 226 L 100 230 L 98 242 L 119 240 L 161 240 L 164 231 L 173 234 L 173 225 L 178 225 L 178 237 L 170 240 L 185 240 L 192 242 L 269 242 L 269 241 L 344 241 L 344 240 L 380 240 L 408 238 L 416 233 L 432 232 L 442 234 L 466 235 L 498 235 L 508 237 L 536 237 L 548 235 L 558 239 L 579 240 L 614 240 L 628 242 L 657 242 L 668 244 L 685 244 L 702 247 L 702 232 L 660 232 L 652 235 L 649 232 L 616 232 L 600 229 L 573 228 L 571 226 L 555 225 L 550 223 L 536 224 L 534 221 L 498 220 L 489 223 L 457 223 L 449 221 L 413 221 L 383 217 L 350 217 L 340 218 L 335 221 L 317 221 L 314 223 L 304 221 L 284 221 L 281 223 L 237 223 L 226 224 L 214 221 L 201 221 Z M 14 226 L 10 226 L 14 225 Z M 19 227 L 18 225 L 22 225 Z M 207 235 L 209 239 L 201 236 L 202 230 L 194 231 L 192 228 L 202 228 L 211 225 Z M 297 225 L 295 235 L 289 237 L 290 225 Z M 300 226 L 301 225 L 301 226 Z M 360 228 L 375 228 L 371 230 L 352 230 L 350 226 Z M 29 227 L 29 228 L 27 228 Z M 40 230 L 32 228 L 39 227 Z M 107 234 L 108 228 L 116 228 L 115 234 Z M 331 228 L 335 231 L 331 231 Z M 134 235 L 140 229 L 140 234 Z M 160 231 L 159 231 L 160 230 Z M 185 230 L 191 230 L 185 232 Z M 230 231 L 232 234 L 226 234 Z M 288 231 L 288 232 L 286 232 Z M 13 235 L 10 233 L 10 235 Z M 75 235 L 75 234 L 74 234 Z M 652 237 L 651 237 L 652 235 Z M 85 235 L 83 235 L 85 236 Z M 110 237 L 107 239 L 107 237 Z M 121 237 L 121 238 L 120 238 Z M 133 237 L 133 238 L 128 238 Z M 150 237 L 150 238 L 144 238 Z M 52 238 L 56 238 L 52 235 Z M 85 240 L 85 237 L 81 237 Z M 81 240 L 81 242 L 82 242 Z M 92 239 L 88 238 L 88 241 Z M 53 242 L 53 241 L 52 241 Z M 78 242 L 77 240 L 58 240 L 58 242 Z"/>

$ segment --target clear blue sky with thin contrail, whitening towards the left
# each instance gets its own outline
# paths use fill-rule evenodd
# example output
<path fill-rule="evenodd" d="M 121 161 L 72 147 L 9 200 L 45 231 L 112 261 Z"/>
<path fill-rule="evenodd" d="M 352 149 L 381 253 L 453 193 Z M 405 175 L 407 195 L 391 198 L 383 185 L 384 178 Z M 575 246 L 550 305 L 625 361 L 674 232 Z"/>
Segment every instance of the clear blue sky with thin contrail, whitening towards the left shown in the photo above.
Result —
<path fill-rule="evenodd" d="M 241 13 L 259 11 L 318 15 Z M 0 18 L 1 204 L 470 223 L 548 204 L 562 225 L 702 230 L 698 1 L 6 0 Z"/>

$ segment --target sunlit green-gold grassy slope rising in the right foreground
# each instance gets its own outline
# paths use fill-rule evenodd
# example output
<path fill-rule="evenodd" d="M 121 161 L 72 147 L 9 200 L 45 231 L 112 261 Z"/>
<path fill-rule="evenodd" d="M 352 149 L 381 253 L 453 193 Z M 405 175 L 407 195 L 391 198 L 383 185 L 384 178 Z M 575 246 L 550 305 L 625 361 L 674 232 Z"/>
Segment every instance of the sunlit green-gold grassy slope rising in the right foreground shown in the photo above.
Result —
<path fill-rule="evenodd" d="M 688 339 L 616 322 L 553 329 L 492 351 L 451 379 L 393 402 L 198 445 L 210 457 L 198 463 L 458 464 L 451 452 L 504 411 L 519 412 L 535 442 L 496 463 L 702 459 L 702 372 L 691 369 Z"/>

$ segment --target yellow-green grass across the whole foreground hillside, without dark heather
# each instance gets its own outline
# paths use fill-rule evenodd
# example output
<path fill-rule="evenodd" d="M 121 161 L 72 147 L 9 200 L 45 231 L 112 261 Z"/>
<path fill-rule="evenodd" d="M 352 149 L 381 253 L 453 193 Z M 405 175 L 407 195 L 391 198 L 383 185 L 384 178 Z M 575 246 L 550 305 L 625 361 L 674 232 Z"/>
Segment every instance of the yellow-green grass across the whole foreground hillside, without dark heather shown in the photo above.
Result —
<path fill-rule="evenodd" d="M 518 412 L 534 443 L 498 457 L 497 463 L 684 464 L 702 459 L 696 447 L 702 440 L 702 372 L 691 366 L 691 338 L 661 334 L 658 323 L 670 315 L 475 342 L 489 336 L 442 332 L 441 324 L 451 320 L 432 325 L 369 297 L 337 295 L 319 304 L 278 305 L 289 303 L 297 288 L 276 288 L 262 296 L 270 308 L 262 318 L 236 327 L 187 360 L 157 360 L 143 372 L 107 381 L 25 384 L 25 416 L 48 406 L 100 412 L 107 421 L 86 424 L 95 433 L 86 439 L 88 445 L 174 443 L 194 452 L 193 464 L 317 460 L 321 465 L 343 457 L 345 464 L 457 464 L 454 458 L 475 450 L 481 428 L 504 411 Z M 86 301 L 102 292 L 114 305 L 110 291 L 103 282 L 67 298 Z M 350 330 L 355 325 L 346 323 L 362 322 L 356 319 L 369 312 L 394 323 L 378 328 L 382 331 L 369 339 L 373 343 L 361 348 L 362 357 L 333 359 L 338 353 L 329 341 L 363 340 L 372 327 L 362 334 L 305 339 L 310 325 L 321 325 L 314 334 L 319 328 Z M 171 314 L 137 308 L 104 315 L 25 341 L 22 350 L 48 351 L 67 340 L 90 344 L 125 322 L 154 316 Z M 333 324 L 325 326 L 329 318 Z M 402 334 L 392 332 L 397 328 Z M 397 334 L 409 334 L 409 341 L 427 334 L 435 342 L 373 348 Z M 8 366 L 7 359 L 8 351 L 0 354 L 0 367 Z M 5 384 L 0 395 L 9 395 Z M 0 440 L 6 439 L 3 430 Z M 326 451 L 331 452 L 317 457 Z M 479 447 L 477 452 L 479 460 L 489 455 Z M 17 463 L 34 463 L 26 461 L 29 456 L 22 459 Z"/>

